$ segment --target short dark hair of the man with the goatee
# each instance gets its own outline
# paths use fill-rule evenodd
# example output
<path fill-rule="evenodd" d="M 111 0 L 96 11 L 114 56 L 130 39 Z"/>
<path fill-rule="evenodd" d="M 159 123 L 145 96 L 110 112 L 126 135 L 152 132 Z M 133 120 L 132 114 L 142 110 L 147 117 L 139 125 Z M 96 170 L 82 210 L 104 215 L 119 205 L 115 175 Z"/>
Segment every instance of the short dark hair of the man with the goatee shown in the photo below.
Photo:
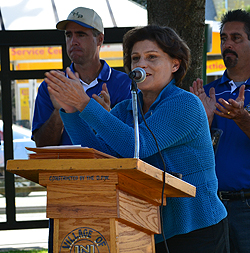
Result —
<path fill-rule="evenodd" d="M 244 23 L 244 29 L 250 40 L 250 14 L 244 10 L 238 9 L 233 11 L 228 11 L 221 18 L 220 31 L 222 31 L 223 26 L 227 22 L 242 22 Z"/>

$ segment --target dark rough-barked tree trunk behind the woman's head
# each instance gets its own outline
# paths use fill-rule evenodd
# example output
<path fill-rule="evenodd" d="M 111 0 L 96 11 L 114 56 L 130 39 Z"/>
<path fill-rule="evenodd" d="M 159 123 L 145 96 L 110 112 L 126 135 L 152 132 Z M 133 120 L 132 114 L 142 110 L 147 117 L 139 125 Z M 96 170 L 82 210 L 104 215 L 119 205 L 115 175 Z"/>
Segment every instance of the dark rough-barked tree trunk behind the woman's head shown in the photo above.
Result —
<path fill-rule="evenodd" d="M 205 0 L 147 0 L 148 23 L 173 28 L 191 50 L 191 66 L 183 80 L 189 90 L 196 78 L 202 78 L 205 40 Z"/>

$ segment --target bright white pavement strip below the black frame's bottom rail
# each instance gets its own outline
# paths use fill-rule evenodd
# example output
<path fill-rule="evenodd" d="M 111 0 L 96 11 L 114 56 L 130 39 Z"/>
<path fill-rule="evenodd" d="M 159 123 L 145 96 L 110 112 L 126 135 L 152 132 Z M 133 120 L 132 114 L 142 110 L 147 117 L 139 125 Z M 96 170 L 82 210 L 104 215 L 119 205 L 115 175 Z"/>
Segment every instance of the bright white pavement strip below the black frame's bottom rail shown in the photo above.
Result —
<path fill-rule="evenodd" d="M 48 228 L 0 230 L 0 252 L 48 249 Z"/>

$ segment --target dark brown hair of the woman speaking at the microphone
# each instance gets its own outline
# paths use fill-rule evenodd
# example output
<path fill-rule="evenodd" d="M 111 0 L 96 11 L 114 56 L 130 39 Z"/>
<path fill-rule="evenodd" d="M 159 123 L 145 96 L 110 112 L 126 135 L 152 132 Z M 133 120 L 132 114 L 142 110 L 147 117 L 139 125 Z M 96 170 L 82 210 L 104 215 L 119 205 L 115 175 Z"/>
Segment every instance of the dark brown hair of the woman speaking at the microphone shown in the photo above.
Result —
<path fill-rule="evenodd" d="M 163 52 L 180 60 L 180 68 L 174 73 L 176 85 L 180 86 L 190 64 L 190 50 L 187 44 L 169 27 L 148 25 L 129 30 L 123 37 L 124 68 L 131 71 L 131 52 L 136 42 L 150 40 L 156 42 Z"/>

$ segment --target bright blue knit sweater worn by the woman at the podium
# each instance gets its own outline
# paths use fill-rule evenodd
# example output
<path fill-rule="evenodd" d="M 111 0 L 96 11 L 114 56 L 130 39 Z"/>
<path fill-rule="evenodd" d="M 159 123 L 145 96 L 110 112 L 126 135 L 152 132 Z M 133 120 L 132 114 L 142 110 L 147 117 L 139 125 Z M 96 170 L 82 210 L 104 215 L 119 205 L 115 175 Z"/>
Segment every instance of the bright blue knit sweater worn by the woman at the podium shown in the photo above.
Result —
<path fill-rule="evenodd" d="M 139 93 L 142 101 L 142 93 Z M 91 99 L 81 112 L 60 111 L 73 144 L 81 144 L 107 154 L 134 156 L 134 123 L 131 100 L 125 100 L 107 112 Z M 204 107 L 195 95 L 180 89 L 172 80 L 145 114 L 154 133 L 167 170 L 181 173 L 183 180 L 196 186 L 195 198 L 168 198 L 164 207 L 166 238 L 208 227 L 226 217 L 217 196 L 214 153 Z M 94 134 L 94 129 L 97 133 Z M 163 169 L 155 141 L 139 112 L 141 160 Z M 163 240 L 156 235 L 156 242 Z"/>

